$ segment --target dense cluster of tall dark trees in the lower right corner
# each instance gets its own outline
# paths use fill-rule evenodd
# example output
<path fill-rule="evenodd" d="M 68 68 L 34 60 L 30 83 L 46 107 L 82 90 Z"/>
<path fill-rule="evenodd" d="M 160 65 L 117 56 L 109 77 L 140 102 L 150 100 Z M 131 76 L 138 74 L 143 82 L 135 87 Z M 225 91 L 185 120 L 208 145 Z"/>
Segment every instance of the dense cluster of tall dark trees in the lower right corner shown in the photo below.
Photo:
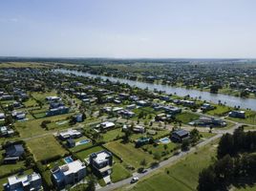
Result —
<path fill-rule="evenodd" d="M 256 132 L 241 127 L 233 135 L 225 134 L 219 143 L 213 164 L 199 175 L 199 191 L 228 190 L 230 185 L 253 184 L 256 180 Z"/>

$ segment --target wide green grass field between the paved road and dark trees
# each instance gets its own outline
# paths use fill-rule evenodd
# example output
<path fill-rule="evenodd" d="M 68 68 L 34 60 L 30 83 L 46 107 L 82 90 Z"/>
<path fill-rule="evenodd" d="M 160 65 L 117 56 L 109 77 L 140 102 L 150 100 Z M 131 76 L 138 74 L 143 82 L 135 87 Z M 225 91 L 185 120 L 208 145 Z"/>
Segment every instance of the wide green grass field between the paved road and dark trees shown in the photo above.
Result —
<path fill-rule="evenodd" d="M 159 171 L 139 180 L 133 188 L 121 188 L 119 190 L 133 191 L 156 191 L 156 190 L 196 190 L 198 185 L 198 175 L 201 170 L 208 166 L 212 157 L 216 155 L 217 141 L 214 145 L 204 146 L 197 153 L 188 155 L 176 164 L 161 168 Z"/>

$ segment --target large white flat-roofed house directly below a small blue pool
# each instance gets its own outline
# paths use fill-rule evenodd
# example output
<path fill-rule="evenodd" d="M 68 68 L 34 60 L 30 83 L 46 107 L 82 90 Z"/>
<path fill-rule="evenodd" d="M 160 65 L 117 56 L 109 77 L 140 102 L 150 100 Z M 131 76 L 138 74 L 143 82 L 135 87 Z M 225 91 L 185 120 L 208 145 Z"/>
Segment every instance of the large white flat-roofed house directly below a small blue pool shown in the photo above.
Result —
<path fill-rule="evenodd" d="M 79 159 L 67 164 L 58 166 L 51 170 L 52 180 L 58 189 L 65 188 L 66 185 L 73 185 L 86 176 L 86 166 Z"/>

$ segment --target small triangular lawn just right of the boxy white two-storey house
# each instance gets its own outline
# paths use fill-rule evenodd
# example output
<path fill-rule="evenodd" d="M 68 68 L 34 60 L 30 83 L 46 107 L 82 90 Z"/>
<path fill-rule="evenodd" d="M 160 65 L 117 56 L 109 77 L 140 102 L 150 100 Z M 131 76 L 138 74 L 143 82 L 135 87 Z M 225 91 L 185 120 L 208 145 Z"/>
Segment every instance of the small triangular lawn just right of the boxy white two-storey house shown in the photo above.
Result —
<path fill-rule="evenodd" d="M 131 173 L 126 170 L 120 163 L 115 163 L 113 165 L 113 173 L 111 174 L 111 180 L 113 182 L 124 180 L 131 176 Z"/>

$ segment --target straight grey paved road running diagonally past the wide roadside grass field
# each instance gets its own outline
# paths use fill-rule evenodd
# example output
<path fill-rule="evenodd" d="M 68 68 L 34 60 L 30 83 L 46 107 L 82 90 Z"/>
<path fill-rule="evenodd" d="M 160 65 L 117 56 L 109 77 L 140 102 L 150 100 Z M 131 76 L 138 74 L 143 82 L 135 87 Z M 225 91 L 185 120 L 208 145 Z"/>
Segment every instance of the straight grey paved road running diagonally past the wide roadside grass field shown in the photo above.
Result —
<path fill-rule="evenodd" d="M 148 168 L 146 173 L 138 174 L 137 177 L 139 177 L 139 180 L 140 180 L 141 178 L 152 174 L 153 172 L 155 172 L 156 170 L 158 170 L 158 169 L 160 169 L 164 166 L 176 163 L 177 161 L 184 158 L 188 154 L 195 152 L 197 149 L 199 149 L 199 148 L 205 146 L 206 144 L 216 140 L 217 138 L 221 138 L 225 133 L 232 134 L 233 131 L 236 128 L 238 128 L 240 125 L 241 125 L 240 123 L 235 123 L 235 125 L 232 128 L 230 128 L 228 130 L 219 131 L 219 133 L 216 136 L 203 140 L 203 142 L 200 142 L 199 144 L 197 144 L 196 147 L 190 148 L 189 151 L 181 152 L 179 155 L 176 155 L 176 156 L 171 157 L 170 159 L 166 159 L 166 160 L 161 161 L 159 166 L 157 166 L 155 168 Z M 99 189 L 97 189 L 97 191 L 109 191 L 109 190 L 117 189 L 118 187 L 129 184 L 131 182 L 131 179 L 132 178 L 128 178 L 128 179 L 125 179 L 125 180 L 117 181 L 116 183 L 112 183 L 112 184 L 107 185 L 105 187 L 99 188 Z"/>

